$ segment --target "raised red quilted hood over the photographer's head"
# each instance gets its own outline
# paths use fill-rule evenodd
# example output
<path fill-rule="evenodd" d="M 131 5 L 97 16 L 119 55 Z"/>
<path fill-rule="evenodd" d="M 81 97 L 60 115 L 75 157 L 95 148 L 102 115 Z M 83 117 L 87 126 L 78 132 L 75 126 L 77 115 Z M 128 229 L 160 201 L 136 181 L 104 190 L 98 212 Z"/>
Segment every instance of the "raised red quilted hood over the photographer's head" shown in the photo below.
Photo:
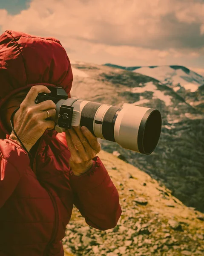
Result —
<path fill-rule="evenodd" d="M 55 38 L 6 30 L 0 35 L 0 109 L 15 93 L 33 85 L 62 87 L 71 97 L 72 68 L 65 49 Z M 10 135 L 0 117 L 0 139 Z M 46 130 L 48 142 L 57 131 Z"/>

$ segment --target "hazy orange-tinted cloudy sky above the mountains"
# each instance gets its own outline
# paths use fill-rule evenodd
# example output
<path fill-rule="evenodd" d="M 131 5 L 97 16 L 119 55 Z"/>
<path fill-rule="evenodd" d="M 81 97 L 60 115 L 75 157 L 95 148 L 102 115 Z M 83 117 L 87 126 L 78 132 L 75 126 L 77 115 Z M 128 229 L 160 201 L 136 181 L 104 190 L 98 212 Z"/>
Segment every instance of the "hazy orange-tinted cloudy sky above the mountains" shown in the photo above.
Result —
<path fill-rule="evenodd" d="M 204 0 L 0 0 L 7 29 L 57 38 L 71 64 L 181 65 L 204 76 Z"/>

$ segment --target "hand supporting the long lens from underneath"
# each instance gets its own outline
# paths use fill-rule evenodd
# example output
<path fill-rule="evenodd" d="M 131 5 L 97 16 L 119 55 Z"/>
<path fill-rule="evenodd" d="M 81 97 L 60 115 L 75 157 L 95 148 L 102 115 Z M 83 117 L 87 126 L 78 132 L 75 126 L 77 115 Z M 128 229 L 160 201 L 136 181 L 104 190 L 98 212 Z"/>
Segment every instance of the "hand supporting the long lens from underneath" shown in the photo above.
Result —
<path fill-rule="evenodd" d="M 80 125 L 72 126 L 65 134 L 71 153 L 69 166 L 75 176 L 80 176 L 92 168 L 92 159 L 101 151 L 101 144 L 89 129 L 86 128 L 86 131 L 82 132 Z"/>

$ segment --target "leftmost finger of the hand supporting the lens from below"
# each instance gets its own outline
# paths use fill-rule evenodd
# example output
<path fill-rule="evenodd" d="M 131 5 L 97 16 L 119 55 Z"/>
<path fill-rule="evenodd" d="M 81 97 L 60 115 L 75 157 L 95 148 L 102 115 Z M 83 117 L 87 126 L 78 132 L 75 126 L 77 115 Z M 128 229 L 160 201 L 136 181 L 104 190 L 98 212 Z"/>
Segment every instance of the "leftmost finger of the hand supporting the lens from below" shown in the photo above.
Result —
<path fill-rule="evenodd" d="M 79 130 L 80 130 L 80 128 L 79 128 Z M 71 135 L 71 137 L 72 137 L 72 141 L 73 141 L 74 145 L 75 145 L 76 148 L 78 149 L 78 153 L 79 153 L 80 157 L 81 157 L 84 161 L 89 160 L 89 156 L 88 156 L 88 154 L 87 154 L 87 151 L 86 151 L 85 148 L 84 148 L 84 143 L 86 143 L 86 142 L 85 142 L 86 138 L 83 136 L 82 133 L 81 133 L 81 134 L 78 134 L 78 133 L 75 131 L 75 129 L 73 129 L 72 127 L 71 127 L 71 129 L 69 129 L 69 133 L 70 133 L 70 135 Z M 86 141 L 87 141 L 87 140 L 86 140 Z M 87 141 L 87 143 L 88 143 L 88 141 Z M 89 145 L 89 147 L 90 147 L 90 145 Z M 91 148 L 91 147 L 90 147 L 90 148 Z"/>

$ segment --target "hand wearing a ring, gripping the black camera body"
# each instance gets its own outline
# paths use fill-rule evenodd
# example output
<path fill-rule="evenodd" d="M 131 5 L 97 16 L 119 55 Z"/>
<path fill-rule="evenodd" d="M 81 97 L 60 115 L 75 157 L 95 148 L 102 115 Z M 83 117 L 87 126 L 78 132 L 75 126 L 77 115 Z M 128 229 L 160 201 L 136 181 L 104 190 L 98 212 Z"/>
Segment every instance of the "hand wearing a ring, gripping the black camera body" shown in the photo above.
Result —
<path fill-rule="evenodd" d="M 20 108 L 14 114 L 14 130 L 27 149 L 30 151 L 32 146 L 43 135 L 46 129 L 52 130 L 55 128 L 55 121 L 46 120 L 49 111 L 49 118 L 55 118 L 57 106 L 52 100 L 46 100 L 35 104 L 35 99 L 38 93 L 51 93 L 44 85 L 34 85 L 29 90 L 26 98 L 20 104 Z M 14 132 L 10 135 L 12 140 L 16 140 L 19 144 Z"/>

